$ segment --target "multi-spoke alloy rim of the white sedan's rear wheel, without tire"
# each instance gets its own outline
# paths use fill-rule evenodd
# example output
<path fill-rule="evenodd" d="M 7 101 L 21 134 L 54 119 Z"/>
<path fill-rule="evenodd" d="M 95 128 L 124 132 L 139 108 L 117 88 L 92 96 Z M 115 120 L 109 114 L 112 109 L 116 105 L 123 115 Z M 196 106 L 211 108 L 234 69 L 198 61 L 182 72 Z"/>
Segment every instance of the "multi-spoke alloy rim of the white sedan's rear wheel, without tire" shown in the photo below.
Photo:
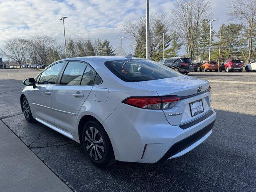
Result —
<path fill-rule="evenodd" d="M 104 141 L 100 132 L 96 128 L 90 127 L 85 133 L 84 140 L 88 154 L 96 161 L 101 160 L 104 156 Z"/>

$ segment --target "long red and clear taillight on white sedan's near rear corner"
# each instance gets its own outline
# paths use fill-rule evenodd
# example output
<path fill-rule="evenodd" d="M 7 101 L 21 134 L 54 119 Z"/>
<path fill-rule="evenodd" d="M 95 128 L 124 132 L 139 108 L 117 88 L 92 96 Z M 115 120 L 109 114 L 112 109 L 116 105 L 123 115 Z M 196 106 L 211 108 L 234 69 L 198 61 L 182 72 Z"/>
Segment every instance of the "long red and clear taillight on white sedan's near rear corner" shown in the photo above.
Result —
<path fill-rule="evenodd" d="M 182 99 L 179 96 L 130 97 L 122 102 L 144 109 L 170 109 Z"/>

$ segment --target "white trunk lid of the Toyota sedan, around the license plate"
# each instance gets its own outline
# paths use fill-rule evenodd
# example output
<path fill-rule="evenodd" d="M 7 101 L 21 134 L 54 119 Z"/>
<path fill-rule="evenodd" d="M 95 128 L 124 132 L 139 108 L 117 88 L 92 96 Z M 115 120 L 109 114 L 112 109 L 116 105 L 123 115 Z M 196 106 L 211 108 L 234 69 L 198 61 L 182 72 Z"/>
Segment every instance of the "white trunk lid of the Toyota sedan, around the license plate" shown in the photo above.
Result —
<path fill-rule="evenodd" d="M 204 92 L 205 90 L 208 90 L 210 86 L 209 82 L 206 80 L 183 75 L 152 81 L 134 82 L 134 84 L 155 90 L 159 96 L 190 96 L 178 101 L 171 109 L 163 110 L 166 119 L 171 125 L 180 125 L 190 122 L 200 116 L 203 116 L 210 110 L 210 92 Z M 198 92 L 198 88 L 200 86 L 202 86 L 200 92 L 204 92 L 202 94 L 198 94 L 200 93 Z M 192 116 L 190 103 L 197 100 L 201 100 L 204 111 Z"/>

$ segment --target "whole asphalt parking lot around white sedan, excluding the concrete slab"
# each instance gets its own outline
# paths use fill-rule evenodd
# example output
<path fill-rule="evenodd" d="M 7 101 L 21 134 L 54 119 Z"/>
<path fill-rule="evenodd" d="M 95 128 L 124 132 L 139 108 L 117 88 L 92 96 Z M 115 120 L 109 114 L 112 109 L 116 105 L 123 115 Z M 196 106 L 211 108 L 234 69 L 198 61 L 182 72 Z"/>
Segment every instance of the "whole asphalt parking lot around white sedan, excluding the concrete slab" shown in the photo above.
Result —
<path fill-rule="evenodd" d="M 75 192 L 256 191 L 256 72 L 192 72 L 210 81 L 217 119 L 212 135 L 182 157 L 156 164 L 96 168 L 82 146 L 37 123 L 20 108 L 33 69 L 0 70 L 0 119 Z"/>

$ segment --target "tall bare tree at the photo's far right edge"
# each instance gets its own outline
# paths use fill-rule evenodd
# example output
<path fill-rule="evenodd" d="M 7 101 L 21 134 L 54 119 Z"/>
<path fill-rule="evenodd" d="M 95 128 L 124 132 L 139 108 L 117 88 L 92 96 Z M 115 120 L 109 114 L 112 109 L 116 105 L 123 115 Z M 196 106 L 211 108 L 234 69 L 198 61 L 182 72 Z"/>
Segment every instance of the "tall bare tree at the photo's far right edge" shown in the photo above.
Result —
<path fill-rule="evenodd" d="M 244 58 L 250 62 L 253 50 L 253 38 L 256 36 L 256 0 L 228 0 L 228 15 L 235 20 L 244 22 L 244 31 L 248 41 L 248 56 Z M 244 50 L 242 49 L 242 54 Z"/>

